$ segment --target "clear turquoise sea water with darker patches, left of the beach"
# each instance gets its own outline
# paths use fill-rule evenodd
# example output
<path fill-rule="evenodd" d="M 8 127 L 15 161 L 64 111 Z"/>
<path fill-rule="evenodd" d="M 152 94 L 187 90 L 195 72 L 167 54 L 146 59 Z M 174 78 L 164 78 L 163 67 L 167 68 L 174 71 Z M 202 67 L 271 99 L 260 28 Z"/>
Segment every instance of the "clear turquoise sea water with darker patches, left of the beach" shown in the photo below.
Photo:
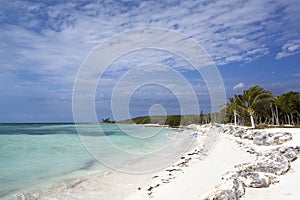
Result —
<path fill-rule="evenodd" d="M 79 174 L 126 167 L 139 155 L 164 148 L 175 132 L 136 125 L 99 127 L 79 124 L 79 136 L 74 124 L 0 124 L 0 198 Z"/>

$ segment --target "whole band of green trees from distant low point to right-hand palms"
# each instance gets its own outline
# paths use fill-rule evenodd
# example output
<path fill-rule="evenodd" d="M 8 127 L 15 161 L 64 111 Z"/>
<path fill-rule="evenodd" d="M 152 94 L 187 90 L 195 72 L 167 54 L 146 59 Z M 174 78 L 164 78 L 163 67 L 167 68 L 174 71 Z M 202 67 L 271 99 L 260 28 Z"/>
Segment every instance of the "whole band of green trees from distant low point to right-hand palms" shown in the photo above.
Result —
<path fill-rule="evenodd" d="M 242 94 L 229 98 L 220 112 L 199 115 L 143 116 L 119 123 L 160 124 L 172 127 L 211 122 L 233 123 L 251 127 L 300 125 L 300 93 L 288 92 L 275 97 L 272 92 L 255 85 Z"/>

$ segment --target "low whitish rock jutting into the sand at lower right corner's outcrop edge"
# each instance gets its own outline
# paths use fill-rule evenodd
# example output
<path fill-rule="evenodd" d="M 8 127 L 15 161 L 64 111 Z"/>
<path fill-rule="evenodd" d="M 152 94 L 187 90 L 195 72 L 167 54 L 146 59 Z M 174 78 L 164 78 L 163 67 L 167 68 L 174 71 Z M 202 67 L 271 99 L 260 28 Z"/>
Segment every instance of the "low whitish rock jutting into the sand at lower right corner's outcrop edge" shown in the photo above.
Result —
<path fill-rule="evenodd" d="M 274 174 L 263 172 L 240 171 L 239 179 L 245 184 L 246 187 L 252 188 L 269 187 L 269 185 L 277 182 Z"/>

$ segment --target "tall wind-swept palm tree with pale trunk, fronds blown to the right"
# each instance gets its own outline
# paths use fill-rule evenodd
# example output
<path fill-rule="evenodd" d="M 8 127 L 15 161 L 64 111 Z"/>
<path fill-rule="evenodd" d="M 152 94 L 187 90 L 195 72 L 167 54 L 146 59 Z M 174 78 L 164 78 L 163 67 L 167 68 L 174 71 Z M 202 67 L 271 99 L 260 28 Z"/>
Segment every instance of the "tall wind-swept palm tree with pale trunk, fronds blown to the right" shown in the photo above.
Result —
<path fill-rule="evenodd" d="M 255 111 L 257 111 L 257 107 L 272 99 L 273 94 L 255 85 L 248 90 L 244 90 L 242 95 L 236 95 L 235 98 L 238 107 L 250 115 L 251 127 L 255 128 L 253 116 Z"/>

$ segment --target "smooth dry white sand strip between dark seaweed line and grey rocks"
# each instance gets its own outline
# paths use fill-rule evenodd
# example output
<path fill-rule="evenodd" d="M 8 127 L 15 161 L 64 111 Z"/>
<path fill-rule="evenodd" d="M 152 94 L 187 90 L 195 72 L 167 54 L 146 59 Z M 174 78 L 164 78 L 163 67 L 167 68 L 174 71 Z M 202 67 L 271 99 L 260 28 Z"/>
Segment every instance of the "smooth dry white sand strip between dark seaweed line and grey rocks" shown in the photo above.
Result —
<path fill-rule="evenodd" d="M 201 199 L 232 166 L 254 159 L 255 156 L 241 150 L 234 140 L 221 135 L 207 157 L 183 169 L 183 173 L 178 174 L 170 183 L 153 190 L 151 199 Z M 139 192 L 127 199 L 145 199 L 147 196 L 145 192 Z"/>

